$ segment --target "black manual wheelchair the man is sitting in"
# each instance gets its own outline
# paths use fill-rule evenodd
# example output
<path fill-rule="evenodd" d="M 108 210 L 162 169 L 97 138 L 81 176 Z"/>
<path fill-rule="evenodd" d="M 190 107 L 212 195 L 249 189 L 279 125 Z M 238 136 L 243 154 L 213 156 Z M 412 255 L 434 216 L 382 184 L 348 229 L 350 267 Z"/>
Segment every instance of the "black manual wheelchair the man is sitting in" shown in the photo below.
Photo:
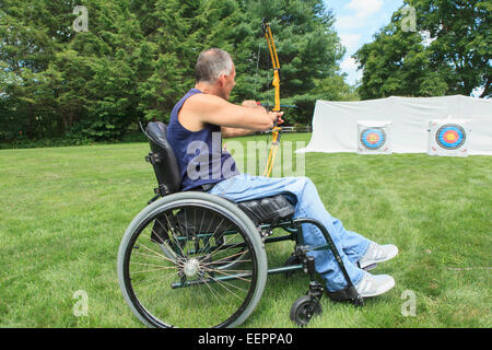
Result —
<path fill-rule="evenodd" d="M 324 288 L 308 254 L 320 249 L 331 250 L 348 285 L 328 296 L 363 304 L 326 228 L 313 219 L 294 219 L 288 194 L 236 203 L 204 191 L 179 191 L 180 173 L 166 126 L 150 122 L 141 128 L 151 148 L 145 160 L 159 187 L 125 232 L 117 271 L 122 295 L 143 324 L 235 327 L 255 311 L 268 275 L 304 271 L 308 291 L 293 303 L 290 318 L 305 326 L 323 312 Z M 326 245 L 306 246 L 303 224 L 317 226 Z M 274 229 L 284 234 L 277 236 Z M 268 267 L 265 245 L 283 241 L 295 242 L 294 252 L 283 266 Z"/>

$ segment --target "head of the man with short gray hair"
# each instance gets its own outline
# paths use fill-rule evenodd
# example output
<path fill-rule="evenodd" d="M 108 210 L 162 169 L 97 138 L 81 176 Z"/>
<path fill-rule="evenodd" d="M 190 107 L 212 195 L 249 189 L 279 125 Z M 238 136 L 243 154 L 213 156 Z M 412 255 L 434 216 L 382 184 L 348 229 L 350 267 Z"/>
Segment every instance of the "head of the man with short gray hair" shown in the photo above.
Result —
<path fill-rule="evenodd" d="M 213 84 L 221 75 L 230 75 L 232 70 L 231 55 L 220 48 L 210 48 L 198 57 L 195 74 L 197 82 Z"/>

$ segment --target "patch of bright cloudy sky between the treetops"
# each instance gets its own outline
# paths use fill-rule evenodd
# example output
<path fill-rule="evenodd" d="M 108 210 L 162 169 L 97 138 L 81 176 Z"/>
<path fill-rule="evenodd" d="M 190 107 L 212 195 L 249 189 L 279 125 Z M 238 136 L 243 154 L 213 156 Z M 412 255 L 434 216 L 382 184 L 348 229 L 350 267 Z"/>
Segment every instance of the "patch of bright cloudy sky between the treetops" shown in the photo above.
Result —
<path fill-rule="evenodd" d="M 325 0 L 337 19 L 335 27 L 347 54 L 341 70 L 348 73 L 351 85 L 362 79 L 352 57 L 362 45 L 371 43 L 373 35 L 389 23 L 393 13 L 403 5 L 403 0 Z"/>

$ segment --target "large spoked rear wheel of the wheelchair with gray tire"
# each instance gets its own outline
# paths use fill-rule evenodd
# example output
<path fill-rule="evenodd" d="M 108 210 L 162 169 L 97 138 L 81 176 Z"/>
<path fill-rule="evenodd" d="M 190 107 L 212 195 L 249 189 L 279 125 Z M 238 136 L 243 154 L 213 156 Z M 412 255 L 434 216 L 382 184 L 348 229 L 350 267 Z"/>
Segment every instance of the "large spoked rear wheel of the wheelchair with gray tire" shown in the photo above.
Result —
<path fill-rule="evenodd" d="M 183 210 L 181 208 L 201 208 L 202 210 L 210 210 L 216 213 L 218 217 L 224 218 L 224 220 L 234 224 L 234 228 L 237 229 L 234 238 L 237 237 L 237 240 L 243 240 L 244 242 L 241 241 L 241 244 L 248 249 L 248 266 L 244 268 L 245 271 L 248 271 L 248 276 L 243 278 L 245 281 L 234 279 L 222 283 L 216 282 L 219 280 L 218 276 L 225 276 L 227 278 L 227 273 L 233 272 L 220 269 L 208 272 L 213 269 L 213 264 L 222 264 L 215 261 L 210 262 L 209 257 L 210 259 L 212 258 L 211 254 L 208 254 L 207 259 L 203 258 L 203 260 L 200 260 L 197 258 L 195 259 L 197 261 L 192 261 L 197 265 L 196 270 L 200 270 L 200 272 L 195 272 L 195 277 L 189 278 L 191 280 L 190 284 L 187 287 L 175 287 L 179 283 L 183 285 L 183 281 L 179 282 L 178 276 L 184 276 L 187 264 L 189 262 L 190 270 L 194 268 L 191 259 L 187 260 L 188 255 L 190 255 L 190 249 L 188 247 L 179 247 L 181 241 L 176 241 L 176 252 L 180 250 L 178 252 L 178 255 L 181 256 L 173 261 L 172 257 L 169 258 L 169 256 L 166 256 L 172 254 L 171 248 L 168 247 L 167 254 L 162 254 L 162 252 L 159 253 L 159 248 L 154 249 L 156 242 L 149 237 L 148 231 L 145 230 L 152 228 L 152 222 L 162 218 L 163 214 L 167 215 L 166 213 L 169 213 L 169 215 L 173 215 L 172 213 Z M 169 222 L 168 228 L 172 226 L 173 224 Z M 172 230 L 168 230 L 171 234 Z M 187 230 L 188 229 L 185 228 L 183 232 L 187 232 Z M 151 233 L 153 229 L 151 229 Z M 189 244 L 192 250 L 192 241 L 187 241 L 186 236 L 187 234 L 184 234 L 178 238 L 187 242 L 185 244 Z M 144 246 L 140 245 L 141 241 L 138 240 L 142 240 L 142 242 L 143 240 L 147 240 L 144 241 Z M 136 244 L 136 242 L 138 243 Z M 155 247 L 157 245 L 155 245 Z M 215 243 L 215 246 L 219 246 L 219 244 Z M 206 253 L 203 253 L 203 255 L 206 255 Z M 147 267 L 143 267 L 143 270 L 138 270 L 136 268 L 137 271 L 132 272 L 132 267 L 130 267 L 131 264 L 145 265 L 142 262 L 132 262 L 134 256 L 138 256 L 140 259 L 153 258 L 153 260 L 150 260 L 150 262 L 145 261 Z M 173 262 L 175 262 L 174 266 Z M 157 264 L 161 264 L 162 266 L 166 265 L 166 267 L 159 267 L 161 265 Z M 207 267 L 201 269 L 200 264 Z M 231 264 L 229 264 L 229 266 L 231 266 Z M 249 267 L 250 270 L 246 270 Z M 141 278 L 141 275 L 150 273 L 148 271 L 151 271 L 152 269 L 154 270 L 154 275 L 162 275 L 164 273 L 163 271 L 166 271 L 166 273 L 171 276 L 171 280 L 167 280 L 166 277 L 166 280 L 164 281 L 163 278 L 159 277 L 157 282 L 155 282 L 155 279 Z M 231 267 L 227 267 L 227 269 L 231 269 Z M 155 272 L 155 270 L 161 271 Z M 179 270 L 180 272 L 176 272 Z M 117 271 L 119 285 L 126 302 L 133 314 L 147 326 L 160 328 L 234 327 L 241 325 L 255 311 L 261 299 L 267 280 L 268 262 L 261 237 L 255 224 L 235 203 L 204 192 L 179 192 L 156 200 L 143 209 L 133 219 L 119 246 Z M 249 273 L 249 271 L 251 272 Z M 145 273 L 137 275 L 137 272 Z M 139 284 L 133 285 L 134 283 Z M 145 285 L 145 283 L 151 287 Z M 237 285 L 234 285 L 234 283 L 244 283 L 246 287 L 241 284 L 242 289 L 239 289 Z M 155 291 L 153 290 L 154 288 Z M 144 292 L 141 292 L 141 295 L 143 296 L 139 295 L 140 290 L 144 290 Z M 231 295 L 224 296 L 223 294 L 227 294 L 227 290 Z M 178 294 L 180 291 L 184 291 L 181 292 L 184 294 Z M 210 295 L 203 295 L 201 299 L 199 298 L 201 294 L 208 292 Z M 235 296 L 236 294 L 237 296 Z M 230 301 L 233 301 L 233 305 L 231 305 Z M 221 303 L 223 303 L 223 305 Z M 203 304 L 209 305 L 209 307 L 202 306 Z M 225 311 L 223 312 L 223 310 Z M 198 318 L 200 320 L 197 320 Z"/>

